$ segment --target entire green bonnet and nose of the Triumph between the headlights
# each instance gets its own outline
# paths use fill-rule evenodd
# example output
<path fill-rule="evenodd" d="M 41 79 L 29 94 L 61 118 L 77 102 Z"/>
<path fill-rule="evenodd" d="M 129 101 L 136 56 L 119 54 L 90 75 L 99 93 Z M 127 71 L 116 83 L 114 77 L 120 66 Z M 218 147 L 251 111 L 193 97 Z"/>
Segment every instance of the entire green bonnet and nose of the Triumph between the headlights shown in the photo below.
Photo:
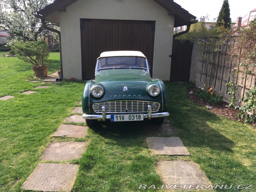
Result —
<path fill-rule="evenodd" d="M 152 79 L 147 71 L 139 69 L 111 69 L 99 71 L 95 76 L 95 84 L 104 88 L 104 96 L 96 99 L 98 102 L 111 100 L 159 100 L 149 97 L 147 86 L 151 82 L 159 84 L 158 79 Z M 160 85 L 160 84 L 159 84 Z M 124 91 L 124 87 L 128 91 Z"/>

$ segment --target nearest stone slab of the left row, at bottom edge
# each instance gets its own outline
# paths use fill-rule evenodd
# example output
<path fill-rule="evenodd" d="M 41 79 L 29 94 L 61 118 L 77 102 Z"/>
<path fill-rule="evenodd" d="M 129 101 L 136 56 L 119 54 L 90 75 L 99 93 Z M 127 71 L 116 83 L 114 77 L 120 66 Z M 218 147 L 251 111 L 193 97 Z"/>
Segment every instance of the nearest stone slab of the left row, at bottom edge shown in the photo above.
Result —
<path fill-rule="evenodd" d="M 73 188 L 79 165 L 39 163 L 21 189 L 33 191 L 65 191 Z"/>

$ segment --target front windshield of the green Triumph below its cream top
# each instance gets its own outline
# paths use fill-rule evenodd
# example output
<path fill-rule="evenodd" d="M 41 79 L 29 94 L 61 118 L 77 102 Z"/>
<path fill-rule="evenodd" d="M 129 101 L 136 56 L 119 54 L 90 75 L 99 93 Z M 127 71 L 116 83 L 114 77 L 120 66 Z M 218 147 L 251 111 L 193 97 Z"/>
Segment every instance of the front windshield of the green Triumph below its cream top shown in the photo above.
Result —
<path fill-rule="evenodd" d="M 96 70 L 107 68 L 145 68 L 148 69 L 146 58 L 144 57 L 104 57 L 98 59 Z"/>

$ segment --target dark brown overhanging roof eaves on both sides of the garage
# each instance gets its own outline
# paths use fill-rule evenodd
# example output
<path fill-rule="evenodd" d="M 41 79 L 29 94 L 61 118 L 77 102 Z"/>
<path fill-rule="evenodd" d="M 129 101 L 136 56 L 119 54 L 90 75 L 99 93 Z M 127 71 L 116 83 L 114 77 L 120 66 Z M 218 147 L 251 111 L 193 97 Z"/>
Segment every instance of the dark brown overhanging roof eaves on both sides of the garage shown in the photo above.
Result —
<path fill-rule="evenodd" d="M 37 11 L 37 15 L 42 15 L 46 20 L 53 23 L 60 23 L 60 11 L 66 11 L 66 7 L 73 4 L 77 0 L 55 0 L 53 3 L 47 5 L 43 9 Z M 174 15 L 174 27 L 187 25 L 191 20 L 195 20 L 196 17 L 191 15 L 187 10 L 183 9 L 174 0 L 154 0 L 159 5 L 164 7 L 169 15 Z"/>

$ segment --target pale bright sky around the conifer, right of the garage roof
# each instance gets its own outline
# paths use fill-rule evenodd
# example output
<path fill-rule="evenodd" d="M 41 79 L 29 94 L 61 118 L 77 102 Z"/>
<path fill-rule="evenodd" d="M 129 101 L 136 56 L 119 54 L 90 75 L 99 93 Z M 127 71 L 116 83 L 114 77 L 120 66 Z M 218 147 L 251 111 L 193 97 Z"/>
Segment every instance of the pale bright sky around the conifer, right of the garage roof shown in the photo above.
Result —
<path fill-rule="evenodd" d="M 209 22 L 218 17 L 223 4 L 223 0 L 174 0 L 174 2 L 197 18 L 208 14 Z M 256 9 L 256 0 L 229 0 L 229 7 L 231 20 L 236 21 L 237 17 L 249 15 L 251 10 Z"/>

